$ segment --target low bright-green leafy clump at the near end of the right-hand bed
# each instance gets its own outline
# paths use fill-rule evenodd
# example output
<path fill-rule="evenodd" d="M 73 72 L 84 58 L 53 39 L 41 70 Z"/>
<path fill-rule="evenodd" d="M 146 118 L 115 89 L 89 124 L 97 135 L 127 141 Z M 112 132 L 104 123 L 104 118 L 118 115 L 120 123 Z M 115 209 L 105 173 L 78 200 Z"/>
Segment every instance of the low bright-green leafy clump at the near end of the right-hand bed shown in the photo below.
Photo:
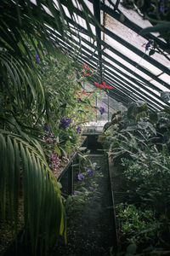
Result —
<path fill-rule="evenodd" d="M 116 206 L 116 212 L 120 221 L 122 236 L 127 243 L 145 245 L 154 243 L 156 231 L 160 224 L 156 221 L 154 212 L 150 210 L 141 211 L 132 204 L 121 203 Z M 128 250 L 127 250 L 127 253 Z M 135 253 L 135 252 L 134 252 Z"/>

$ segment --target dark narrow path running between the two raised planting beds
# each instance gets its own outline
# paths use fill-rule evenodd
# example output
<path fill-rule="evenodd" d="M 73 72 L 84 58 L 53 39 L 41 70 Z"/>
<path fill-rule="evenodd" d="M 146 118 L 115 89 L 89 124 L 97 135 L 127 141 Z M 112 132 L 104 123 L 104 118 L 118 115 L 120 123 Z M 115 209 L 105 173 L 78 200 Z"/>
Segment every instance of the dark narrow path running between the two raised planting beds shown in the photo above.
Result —
<path fill-rule="evenodd" d="M 85 176 L 83 181 L 77 180 L 74 188 L 77 195 L 72 196 L 72 209 L 67 213 L 67 245 L 55 246 L 49 256 L 109 256 L 116 251 L 107 159 L 101 154 L 91 154 L 89 158 L 100 169 L 95 170 L 91 177 Z M 92 188 L 94 191 L 89 191 Z M 78 205 L 77 196 L 82 204 Z"/>

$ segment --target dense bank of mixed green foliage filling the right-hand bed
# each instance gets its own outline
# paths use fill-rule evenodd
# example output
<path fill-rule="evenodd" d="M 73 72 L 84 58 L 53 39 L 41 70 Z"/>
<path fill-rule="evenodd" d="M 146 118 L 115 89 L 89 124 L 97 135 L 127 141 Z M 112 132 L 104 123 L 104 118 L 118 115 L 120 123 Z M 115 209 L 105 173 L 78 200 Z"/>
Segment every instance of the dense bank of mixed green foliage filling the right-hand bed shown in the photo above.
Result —
<path fill-rule="evenodd" d="M 139 253 L 141 248 L 153 251 L 157 245 L 169 248 L 169 135 L 169 109 L 149 112 L 143 102 L 137 102 L 119 116 L 114 113 L 101 136 L 126 194 L 117 208 L 124 251 L 132 243 Z M 126 255 L 133 253 L 127 250 Z"/>

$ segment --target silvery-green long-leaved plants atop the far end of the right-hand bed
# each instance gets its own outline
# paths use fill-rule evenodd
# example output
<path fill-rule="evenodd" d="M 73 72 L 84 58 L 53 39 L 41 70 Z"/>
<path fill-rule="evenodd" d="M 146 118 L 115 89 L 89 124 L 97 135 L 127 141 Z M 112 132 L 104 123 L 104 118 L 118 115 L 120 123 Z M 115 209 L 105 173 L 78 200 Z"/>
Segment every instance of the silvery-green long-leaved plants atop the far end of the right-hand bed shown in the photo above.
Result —
<path fill-rule="evenodd" d="M 114 115 L 114 114 L 113 114 Z M 127 112 L 115 114 L 111 124 L 105 128 L 105 145 L 111 143 L 113 158 L 128 154 L 130 158 L 139 158 L 147 148 L 156 145 L 160 150 L 169 150 L 170 129 L 168 112 L 149 112 L 144 102 L 136 102 L 127 108 Z M 108 133 L 108 130 L 110 131 Z"/>

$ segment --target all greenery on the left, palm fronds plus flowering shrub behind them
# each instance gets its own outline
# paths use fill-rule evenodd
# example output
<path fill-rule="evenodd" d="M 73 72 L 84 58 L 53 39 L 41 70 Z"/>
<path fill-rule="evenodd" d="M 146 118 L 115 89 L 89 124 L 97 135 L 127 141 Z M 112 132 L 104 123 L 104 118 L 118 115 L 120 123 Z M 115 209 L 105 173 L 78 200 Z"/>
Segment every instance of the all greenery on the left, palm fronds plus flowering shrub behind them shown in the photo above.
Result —
<path fill-rule="evenodd" d="M 0 212 L 3 220 L 7 213 L 14 221 L 17 235 L 17 212 L 23 197 L 25 229 L 34 254 L 39 246 L 47 253 L 60 235 L 66 240 L 65 210 L 48 159 L 51 154 L 59 158 L 71 154 L 80 142 L 77 126 L 92 119 L 89 112 L 94 111 L 94 95 L 83 94 L 81 103 L 77 96 L 87 70 L 61 53 L 51 38 L 51 29 L 65 40 L 71 34 L 65 10 L 60 1 L 58 4 L 55 9 L 53 1 L 1 1 Z M 82 0 L 77 4 L 94 38 L 88 25 L 93 15 Z M 75 19 L 71 1 L 67 9 Z M 93 71 L 89 69 L 89 73 Z M 59 129 L 61 118 L 70 118 L 71 125 Z M 44 125 L 49 131 L 44 131 Z"/>

